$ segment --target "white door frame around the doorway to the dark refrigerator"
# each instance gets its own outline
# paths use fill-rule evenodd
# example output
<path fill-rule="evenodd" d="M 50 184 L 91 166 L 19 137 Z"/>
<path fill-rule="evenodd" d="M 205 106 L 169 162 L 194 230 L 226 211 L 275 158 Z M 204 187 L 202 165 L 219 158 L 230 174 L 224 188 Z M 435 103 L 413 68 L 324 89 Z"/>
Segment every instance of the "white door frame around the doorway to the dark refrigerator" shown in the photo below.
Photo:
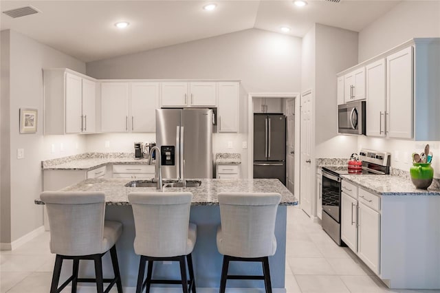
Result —
<path fill-rule="evenodd" d="M 248 94 L 248 179 L 254 177 L 254 98 L 294 98 L 295 99 L 295 174 L 294 191 L 299 195 L 299 155 L 300 155 L 300 94 L 299 93 L 249 93 Z M 286 162 L 287 166 L 287 162 Z"/>

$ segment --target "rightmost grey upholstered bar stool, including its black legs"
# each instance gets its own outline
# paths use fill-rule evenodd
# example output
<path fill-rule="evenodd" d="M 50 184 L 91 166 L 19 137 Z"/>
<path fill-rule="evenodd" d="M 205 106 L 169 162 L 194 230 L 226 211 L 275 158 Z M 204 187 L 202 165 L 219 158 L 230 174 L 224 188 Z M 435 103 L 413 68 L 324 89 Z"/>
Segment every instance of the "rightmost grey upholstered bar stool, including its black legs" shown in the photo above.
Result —
<path fill-rule="evenodd" d="M 264 280 L 272 292 L 269 257 L 276 252 L 275 219 L 281 200 L 279 193 L 219 193 L 221 226 L 217 248 L 223 254 L 220 292 L 227 279 Z M 230 261 L 259 261 L 263 276 L 228 275 Z"/>

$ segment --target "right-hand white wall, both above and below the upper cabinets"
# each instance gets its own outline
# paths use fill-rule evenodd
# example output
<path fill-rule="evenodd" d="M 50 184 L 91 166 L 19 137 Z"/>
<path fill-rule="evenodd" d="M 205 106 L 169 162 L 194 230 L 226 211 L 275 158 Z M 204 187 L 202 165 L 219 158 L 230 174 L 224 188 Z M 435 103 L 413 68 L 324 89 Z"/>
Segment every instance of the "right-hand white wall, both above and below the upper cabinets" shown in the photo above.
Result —
<path fill-rule="evenodd" d="M 359 61 L 365 61 L 414 37 L 440 37 L 440 1 L 401 1 L 393 10 L 371 23 L 359 33 Z M 434 154 L 434 176 L 440 177 L 440 142 L 413 142 L 384 138 L 358 139 L 363 148 L 388 151 L 391 166 L 409 171 L 410 155 L 421 153 L 429 143 Z"/>

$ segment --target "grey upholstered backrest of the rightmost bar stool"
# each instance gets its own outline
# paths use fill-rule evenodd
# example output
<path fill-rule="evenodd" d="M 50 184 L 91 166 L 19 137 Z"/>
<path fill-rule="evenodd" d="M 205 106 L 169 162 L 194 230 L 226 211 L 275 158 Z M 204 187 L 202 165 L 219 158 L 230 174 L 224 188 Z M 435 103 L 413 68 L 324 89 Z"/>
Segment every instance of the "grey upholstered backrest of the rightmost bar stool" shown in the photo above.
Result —
<path fill-rule="evenodd" d="M 235 257 L 274 254 L 279 193 L 219 193 L 222 247 Z M 275 241 L 275 243 L 274 243 Z"/>

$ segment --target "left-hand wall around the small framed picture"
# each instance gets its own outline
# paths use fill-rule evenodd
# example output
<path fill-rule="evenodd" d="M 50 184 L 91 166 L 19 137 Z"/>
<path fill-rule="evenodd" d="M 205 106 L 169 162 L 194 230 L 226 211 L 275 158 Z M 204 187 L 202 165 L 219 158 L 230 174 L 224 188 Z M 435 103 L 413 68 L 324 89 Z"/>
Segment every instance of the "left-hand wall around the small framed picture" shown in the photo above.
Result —
<path fill-rule="evenodd" d="M 10 243 L 43 225 L 43 208 L 34 204 L 34 199 L 39 197 L 42 189 L 41 160 L 85 151 L 85 140 L 80 135 L 69 135 L 69 137 L 59 135 L 47 138 L 50 140 L 50 144 L 59 145 L 64 142 L 63 155 L 51 153 L 51 146 L 45 143 L 46 137 L 43 136 L 43 74 L 41 69 L 68 67 L 77 72 L 85 73 L 85 63 L 17 32 L 3 31 L 1 34 L 10 42 L 10 95 L 3 96 L 2 92 L 1 96 L 2 105 L 9 103 L 9 109 L 2 107 L 1 111 L 2 113 L 8 111 L 10 116 L 7 121 L 2 120 L 1 123 L 2 141 L 3 139 L 10 140 L 10 151 L 5 153 L 2 148 L 1 153 L 1 162 L 10 162 L 9 169 L 3 168 L 4 165 L 7 165 L 5 163 L 2 164 L 1 170 L 2 178 L 3 175 L 10 175 L 9 182 L 5 182 L 10 186 L 10 193 L 3 194 L 2 191 L 1 197 L 9 197 L 10 206 L 2 204 L 1 212 L 3 213 L 4 209 L 7 212 L 10 209 L 11 219 L 9 231 L 5 232 L 10 235 L 10 238 L 2 238 L 1 243 Z M 1 43 L 2 47 L 5 45 L 8 44 Z M 36 133 L 19 133 L 20 108 L 32 108 L 39 111 Z M 10 131 L 9 135 L 8 131 Z M 8 137 L 3 137 L 3 133 Z M 78 142 L 78 149 L 75 147 L 76 142 Z M 25 150 L 25 158 L 22 160 L 17 160 L 17 149 L 19 148 Z M 3 233 L 3 226 L 1 228 Z"/>

